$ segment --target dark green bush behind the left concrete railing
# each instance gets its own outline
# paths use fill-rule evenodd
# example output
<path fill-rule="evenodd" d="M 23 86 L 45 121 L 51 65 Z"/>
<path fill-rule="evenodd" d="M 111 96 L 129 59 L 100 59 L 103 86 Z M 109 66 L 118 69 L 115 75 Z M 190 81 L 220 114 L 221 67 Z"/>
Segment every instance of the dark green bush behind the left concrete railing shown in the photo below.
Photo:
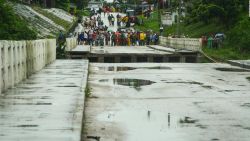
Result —
<path fill-rule="evenodd" d="M 5 0 L 0 0 L 0 39 L 31 40 L 36 39 L 35 31 L 17 16 Z"/>

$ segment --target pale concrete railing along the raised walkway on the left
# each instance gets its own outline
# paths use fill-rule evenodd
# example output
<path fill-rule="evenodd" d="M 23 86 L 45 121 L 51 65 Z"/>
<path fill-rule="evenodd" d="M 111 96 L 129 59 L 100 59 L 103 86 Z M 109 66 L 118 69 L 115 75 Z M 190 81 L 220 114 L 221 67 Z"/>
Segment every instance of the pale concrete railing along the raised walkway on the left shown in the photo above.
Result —
<path fill-rule="evenodd" d="M 56 40 L 0 41 L 0 93 L 56 59 Z"/>

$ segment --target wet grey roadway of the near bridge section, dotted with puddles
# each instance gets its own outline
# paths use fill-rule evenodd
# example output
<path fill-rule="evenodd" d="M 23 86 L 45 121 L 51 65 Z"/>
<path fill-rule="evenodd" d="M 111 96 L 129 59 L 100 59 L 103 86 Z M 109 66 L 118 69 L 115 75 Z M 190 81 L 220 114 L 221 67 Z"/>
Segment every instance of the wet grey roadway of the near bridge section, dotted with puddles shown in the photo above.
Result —
<path fill-rule="evenodd" d="M 248 141 L 250 72 L 216 68 L 239 69 L 227 64 L 91 64 L 83 140 Z M 129 85 L 114 83 L 117 79 Z M 148 85 L 138 89 L 134 80 Z"/>

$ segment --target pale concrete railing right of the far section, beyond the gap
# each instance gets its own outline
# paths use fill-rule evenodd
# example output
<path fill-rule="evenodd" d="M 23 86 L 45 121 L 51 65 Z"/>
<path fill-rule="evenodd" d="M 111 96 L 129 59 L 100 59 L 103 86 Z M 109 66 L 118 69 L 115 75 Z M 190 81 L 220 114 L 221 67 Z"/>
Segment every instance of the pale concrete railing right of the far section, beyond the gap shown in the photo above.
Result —
<path fill-rule="evenodd" d="M 162 36 L 160 36 L 160 45 L 191 51 L 200 51 L 202 47 L 201 39 L 199 38 L 171 38 Z"/>

